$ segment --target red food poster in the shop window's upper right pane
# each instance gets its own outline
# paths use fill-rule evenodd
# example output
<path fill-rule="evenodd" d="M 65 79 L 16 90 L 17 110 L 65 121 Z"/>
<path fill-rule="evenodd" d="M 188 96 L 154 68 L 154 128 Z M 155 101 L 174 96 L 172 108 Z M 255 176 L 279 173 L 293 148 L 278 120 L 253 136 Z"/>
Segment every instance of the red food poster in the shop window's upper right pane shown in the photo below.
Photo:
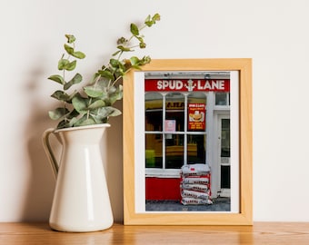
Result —
<path fill-rule="evenodd" d="M 188 130 L 205 130 L 205 104 L 189 103 L 188 104 Z"/>

